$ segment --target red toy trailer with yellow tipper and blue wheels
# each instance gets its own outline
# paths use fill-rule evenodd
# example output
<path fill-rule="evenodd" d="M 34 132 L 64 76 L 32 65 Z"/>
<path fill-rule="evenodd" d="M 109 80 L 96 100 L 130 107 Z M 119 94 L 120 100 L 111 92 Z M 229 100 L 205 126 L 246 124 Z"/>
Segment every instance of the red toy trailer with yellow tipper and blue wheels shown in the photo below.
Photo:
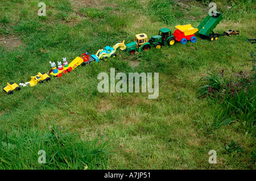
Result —
<path fill-rule="evenodd" d="M 191 41 L 192 43 L 196 42 L 195 32 L 198 31 L 197 28 L 193 28 L 191 24 L 187 25 L 178 25 L 175 27 L 177 30 L 174 31 L 174 38 L 176 41 L 180 41 L 181 44 L 186 44 L 187 41 Z"/>

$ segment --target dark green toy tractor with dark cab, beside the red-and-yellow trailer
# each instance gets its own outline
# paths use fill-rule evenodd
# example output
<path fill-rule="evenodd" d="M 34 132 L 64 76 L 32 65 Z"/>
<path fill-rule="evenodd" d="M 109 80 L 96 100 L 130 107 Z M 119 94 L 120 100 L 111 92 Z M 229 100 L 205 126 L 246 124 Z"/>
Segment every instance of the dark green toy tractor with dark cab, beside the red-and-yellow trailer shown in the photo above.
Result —
<path fill-rule="evenodd" d="M 175 39 L 171 36 L 171 30 L 169 28 L 162 28 L 159 30 L 158 35 L 152 36 L 148 42 L 155 48 L 160 49 L 164 45 L 173 45 Z"/>

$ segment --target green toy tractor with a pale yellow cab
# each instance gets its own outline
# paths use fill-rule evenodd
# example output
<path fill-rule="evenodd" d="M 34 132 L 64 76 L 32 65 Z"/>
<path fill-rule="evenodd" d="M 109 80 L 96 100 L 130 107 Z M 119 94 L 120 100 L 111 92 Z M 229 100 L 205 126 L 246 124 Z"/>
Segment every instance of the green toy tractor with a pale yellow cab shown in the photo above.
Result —
<path fill-rule="evenodd" d="M 133 42 L 126 45 L 126 51 L 130 54 L 134 54 L 136 51 L 141 52 L 142 50 L 149 50 L 150 43 L 147 41 L 147 35 L 145 33 L 141 33 L 135 36 Z"/>

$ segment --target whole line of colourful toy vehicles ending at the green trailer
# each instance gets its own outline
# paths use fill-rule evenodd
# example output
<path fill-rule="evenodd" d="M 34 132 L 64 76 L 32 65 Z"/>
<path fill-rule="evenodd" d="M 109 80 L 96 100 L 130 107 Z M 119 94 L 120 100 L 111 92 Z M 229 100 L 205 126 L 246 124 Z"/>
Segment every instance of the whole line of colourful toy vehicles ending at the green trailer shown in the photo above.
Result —
<path fill-rule="evenodd" d="M 181 44 L 186 44 L 187 41 L 191 41 L 191 43 L 196 42 L 195 33 L 198 31 L 200 37 L 207 38 L 210 41 L 217 40 L 218 36 L 221 34 L 213 33 L 213 29 L 217 26 L 218 23 L 222 20 L 222 15 L 219 12 L 214 12 L 212 16 L 207 15 L 207 17 L 199 24 L 197 28 L 193 28 L 191 24 L 187 24 L 184 26 L 176 26 L 176 30 L 173 35 L 171 35 L 171 30 L 169 28 L 162 28 L 159 30 L 158 35 L 152 36 L 149 40 L 145 33 L 141 33 L 135 35 L 135 39 L 133 42 L 125 45 L 125 40 L 122 43 L 117 43 L 113 47 L 106 46 L 104 49 L 98 50 L 96 54 L 92 54 L 89 56 L 88 52 L 82 53 L 81 57 L 76 57 L 71 63 L 68 64 L 66 58 L 63 57 L 63 64 L 61 62 L 57 62 L 57 66 L 55 62 L 49 61 L 51 64 L 51 69 L 48 73 L 38 73 L 38 75 L 31 77 L 30 82 L 20 83 L 20 86 L 35 86 L 37 83 L 43 83 L 44 81 L 49 81 L 51 78 L 49 75 L 60 78 L 63 74 L 71 72 L 79 65 L 89 65 L 92 62 L 99 62 L 100 60 L 106 61 L 109 57 L 117 57 L 116 50 L 120 47 L 121 50 L 125 50 L 130 54 L 134 54 L 135 52 L 141 52 L 145 50 L 149 50 L 151 47 L 156 49 L 160 49 L 164 45 L 174 45 L 177 42 Z M 7 94 L 13 94 L 14 90 L 20 90 L 20 86 L 16 83 L 7 83 L 7 86 L 3 87 L 3 90 L 7 92 Z"/>

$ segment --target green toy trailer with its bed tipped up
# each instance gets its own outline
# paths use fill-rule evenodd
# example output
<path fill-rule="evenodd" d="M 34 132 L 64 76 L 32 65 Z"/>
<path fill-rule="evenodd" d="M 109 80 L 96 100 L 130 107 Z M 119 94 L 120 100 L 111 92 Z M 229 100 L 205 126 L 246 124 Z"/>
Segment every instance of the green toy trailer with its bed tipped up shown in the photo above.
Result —
<path fill-rule="evenodd" d="M 214 33 L 214 28 L 220 23 L 222 20 L 222 14 L 220 12 L 214 12 L 215 15 L 210 16 L 209 14 L 207 17 L 199 24 L 198 32 L 200 37 L 207 38 L 210 41 L 217 40 L 219 36 L 223 36 L 223 34 Z M 213 14 L 214 14 L 213 13 Z"/>

